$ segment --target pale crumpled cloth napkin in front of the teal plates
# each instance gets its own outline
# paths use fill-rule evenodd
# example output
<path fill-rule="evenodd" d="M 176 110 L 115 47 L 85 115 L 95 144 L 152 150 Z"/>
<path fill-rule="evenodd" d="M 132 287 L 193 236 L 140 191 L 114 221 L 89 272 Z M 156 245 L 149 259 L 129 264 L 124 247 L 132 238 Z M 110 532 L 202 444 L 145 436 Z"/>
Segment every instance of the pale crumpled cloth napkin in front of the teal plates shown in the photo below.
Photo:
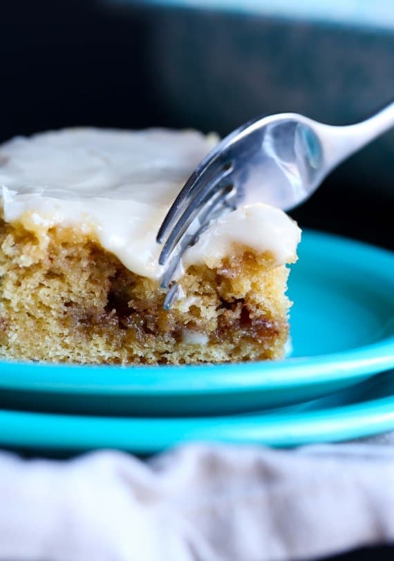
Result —
<path fill-rule="evenodd" d="M 394 433 L 272 450 L 189 445 L 149 462 L 0 453 L 0 559 L 274 561 L 394 542 Z"/>

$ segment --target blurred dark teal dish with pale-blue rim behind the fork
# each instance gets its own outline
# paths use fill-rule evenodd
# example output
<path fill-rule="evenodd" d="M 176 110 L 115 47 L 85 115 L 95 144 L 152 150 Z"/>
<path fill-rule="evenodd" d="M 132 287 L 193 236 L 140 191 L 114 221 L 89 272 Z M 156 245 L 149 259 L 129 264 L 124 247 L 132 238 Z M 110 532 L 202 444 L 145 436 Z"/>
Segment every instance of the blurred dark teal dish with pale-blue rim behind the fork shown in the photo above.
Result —
<path fill-rule="evenodd" d="M 257 115 L 287 111 L 350 124 L 394 98 L 392 0 L 102 5 L 130 26 L 144 22 L 145 93 L 168 126 L 224 135 Z M 348 162 L 337 184 L 394 198 L 393 161 L 391 131 Z"/>

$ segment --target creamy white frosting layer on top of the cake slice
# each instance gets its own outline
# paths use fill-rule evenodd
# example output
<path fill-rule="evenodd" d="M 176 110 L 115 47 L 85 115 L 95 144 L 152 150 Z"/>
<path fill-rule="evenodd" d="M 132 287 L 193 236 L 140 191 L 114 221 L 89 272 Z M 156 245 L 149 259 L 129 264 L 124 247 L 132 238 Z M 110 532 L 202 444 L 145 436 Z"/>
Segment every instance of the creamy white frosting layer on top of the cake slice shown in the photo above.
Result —
<path fill-rule="evenodd" d="M 94 232 L 136 274 L 159 278 L 158 227 L 196 164 L 216 144 L 196 131 L 65 129 L 0 146 L 0 196 L 7 222 L 21 221 L 45 241 L 50 227 Z M 300 230 L 268 205 L 241 207 L 187 250 L 184 267 L 213 264 L 235 245 L 294 260 Z"/>

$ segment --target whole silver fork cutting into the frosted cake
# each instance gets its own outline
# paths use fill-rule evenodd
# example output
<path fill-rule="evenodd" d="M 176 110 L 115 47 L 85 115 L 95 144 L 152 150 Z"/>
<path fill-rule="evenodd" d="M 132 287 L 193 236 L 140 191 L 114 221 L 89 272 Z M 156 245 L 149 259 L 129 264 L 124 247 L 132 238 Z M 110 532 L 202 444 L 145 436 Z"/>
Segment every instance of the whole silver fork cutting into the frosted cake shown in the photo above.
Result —
<path fill-rule="evenodd" d="M 187 247 L 224 213 L 265 202 L 290 210 L 306 200 L 340 162 L 394 126 L 394 102 L 348 126 L 322 124 L 296 113 L 247 122 L 225 137 L 201 162 L 158 231 L 166 265 L 164 307 L 178 294 L 173 275 Z"/>

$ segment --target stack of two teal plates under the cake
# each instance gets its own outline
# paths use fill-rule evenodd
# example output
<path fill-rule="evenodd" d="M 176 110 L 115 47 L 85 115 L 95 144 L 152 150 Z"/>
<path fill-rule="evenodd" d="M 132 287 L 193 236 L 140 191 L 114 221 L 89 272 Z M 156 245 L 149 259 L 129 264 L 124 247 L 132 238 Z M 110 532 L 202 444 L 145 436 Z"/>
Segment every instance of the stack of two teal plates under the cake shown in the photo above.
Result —
<path fill-rule="evenodd" d="M 394 254 L 307 231 L 291 358 L 234 365 L 0 363 L 0 446 L 295 446 L 394 430 Z"/>

